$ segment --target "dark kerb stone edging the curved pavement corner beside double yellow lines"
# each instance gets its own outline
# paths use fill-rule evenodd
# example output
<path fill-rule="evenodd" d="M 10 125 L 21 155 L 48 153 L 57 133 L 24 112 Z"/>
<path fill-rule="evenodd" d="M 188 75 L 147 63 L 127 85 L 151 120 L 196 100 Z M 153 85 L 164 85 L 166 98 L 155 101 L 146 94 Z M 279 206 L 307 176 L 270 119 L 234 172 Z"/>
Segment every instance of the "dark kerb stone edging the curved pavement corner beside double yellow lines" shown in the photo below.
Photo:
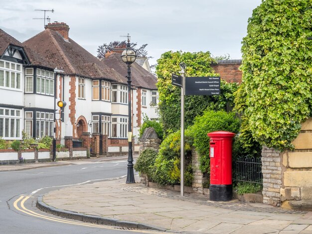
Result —
<path fill-rule="evenodd" d="M 131 229 L 140 229 L 140 230 L 155 230 L 160 232 L 166 232 L 166 229 L 155 227 L 148 224 L 141 224 L 130 221 L 123 221 L 111 218 L 104 218 L 93 215 L 84 215 L 76 212 L 66 211 L 57 209 L 55 207 L 49 206 L 43 202 L 43 196 L 38 196 L 36 206 L 39 210 L 59 216 L 66 219 L 82 221 L 91 224 L 99 224 L 99 225 L 108 225 L 108 226 L 116 226 L 122 228 L 131 228 Z"/>

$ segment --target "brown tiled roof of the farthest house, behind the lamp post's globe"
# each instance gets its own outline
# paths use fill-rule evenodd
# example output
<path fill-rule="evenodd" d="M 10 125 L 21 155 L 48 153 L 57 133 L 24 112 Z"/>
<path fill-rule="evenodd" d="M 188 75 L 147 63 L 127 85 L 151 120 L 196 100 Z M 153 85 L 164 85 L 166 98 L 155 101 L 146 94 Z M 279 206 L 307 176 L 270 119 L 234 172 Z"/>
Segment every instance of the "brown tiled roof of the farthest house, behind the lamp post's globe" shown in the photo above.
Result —
<path fill-rule="evenodd" d="M 108 58 L 103 60 L 103 63 L 108 67 L 113 68 L 121 75 L 126 76 L 128 67 L 123 62 L 120 54 L 113 53 Z M 136 87 L 146 88 L 150 90 L 156 90 L 157 78 L 141 67 L 138 63 L 133 63 L 131 66 L 131 80 L 132 85 Z"/>

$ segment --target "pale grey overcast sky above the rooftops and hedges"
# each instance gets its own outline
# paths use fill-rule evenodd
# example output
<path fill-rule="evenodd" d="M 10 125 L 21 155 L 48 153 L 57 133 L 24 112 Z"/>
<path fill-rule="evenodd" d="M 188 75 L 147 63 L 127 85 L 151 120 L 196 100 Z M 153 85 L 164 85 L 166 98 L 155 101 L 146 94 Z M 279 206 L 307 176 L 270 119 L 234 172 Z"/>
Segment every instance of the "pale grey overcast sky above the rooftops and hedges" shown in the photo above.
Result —
<path fill-rule="evenodd" d="M 149 44 L 156 60 L 163 52 L 210 51 L 241 58 L 248 18 L 261 0 L 0 0 L 0 28 L 23 42 L 44 30 L 43 11 L 51 22 L 69 25 L 69 37 L 97 55 L 103 43 L 124 40 Z M 47 21 L 46 21 L 47 23 Z"/>

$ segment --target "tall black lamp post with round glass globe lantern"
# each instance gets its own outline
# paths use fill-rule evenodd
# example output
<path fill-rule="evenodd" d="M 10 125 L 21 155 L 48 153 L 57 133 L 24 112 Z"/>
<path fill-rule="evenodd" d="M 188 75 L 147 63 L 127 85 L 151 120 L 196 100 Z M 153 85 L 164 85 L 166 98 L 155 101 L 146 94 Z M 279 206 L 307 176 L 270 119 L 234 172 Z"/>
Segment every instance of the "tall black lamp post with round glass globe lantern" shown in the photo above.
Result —
<path fill-rule="evenodd" d="M 130 39 L 128 37 L 127 48 L 123 51 L 121 55 L 122 60 L 128 66 L 128 143 L 129 143 L 129 150 L 128 150 L 128 172 L 127 172 L 127 184 L 136 183 L 134 170 L 133 170 L 133 156 L 132 156 L 132 113 L 131 113 L 131 65 L 134 61 L 136 61 L 137 54 L 136 52 L 130 48 Z"/>

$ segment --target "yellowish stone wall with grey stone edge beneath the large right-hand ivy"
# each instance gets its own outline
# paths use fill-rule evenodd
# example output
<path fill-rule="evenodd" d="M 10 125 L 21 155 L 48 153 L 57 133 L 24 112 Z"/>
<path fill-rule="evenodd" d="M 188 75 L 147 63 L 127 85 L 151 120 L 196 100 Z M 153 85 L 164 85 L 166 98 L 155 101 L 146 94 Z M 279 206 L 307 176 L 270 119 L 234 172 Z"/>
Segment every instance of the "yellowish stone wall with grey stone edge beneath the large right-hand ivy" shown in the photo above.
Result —
<path fill-rule="evenodd" d="M 263 203 L 285 209 L 312 209 L 312 118 L 302 123 L 295 150 L 263 147 Z"/>

